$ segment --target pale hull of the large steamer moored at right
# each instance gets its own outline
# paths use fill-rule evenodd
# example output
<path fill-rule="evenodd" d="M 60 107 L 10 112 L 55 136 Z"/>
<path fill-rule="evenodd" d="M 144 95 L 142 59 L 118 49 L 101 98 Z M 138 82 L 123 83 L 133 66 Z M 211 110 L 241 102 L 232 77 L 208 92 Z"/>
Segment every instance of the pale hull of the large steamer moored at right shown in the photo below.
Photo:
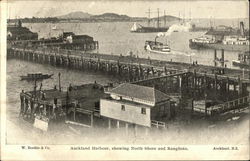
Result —
<path fill-rule="evenodd" d="M 249 51 L 249 46 L 248 45 L 225 45 L 222 43 L 211 43 L 211 44 L 206 44 L 206 43 L 199 43 L 199 42 L 192 42 L 191 40 L 189 41 L 189 47 L 191 49 L 224 49 L 226 51 Z"/>

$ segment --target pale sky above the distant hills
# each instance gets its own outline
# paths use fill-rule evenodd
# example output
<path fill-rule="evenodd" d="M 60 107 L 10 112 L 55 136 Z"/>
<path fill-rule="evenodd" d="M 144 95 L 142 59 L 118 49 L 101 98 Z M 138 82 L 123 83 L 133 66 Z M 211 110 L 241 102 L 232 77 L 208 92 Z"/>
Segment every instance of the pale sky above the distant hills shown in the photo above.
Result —
<path fill-rule="evenodd" d="M 247 0 L 8 0 L 8 18 L 53 17 L 82 11 L 90 14 L 106 12 L 126 14 L 133 17 L 167 15 L 181 18 L 248 18 Z"/>

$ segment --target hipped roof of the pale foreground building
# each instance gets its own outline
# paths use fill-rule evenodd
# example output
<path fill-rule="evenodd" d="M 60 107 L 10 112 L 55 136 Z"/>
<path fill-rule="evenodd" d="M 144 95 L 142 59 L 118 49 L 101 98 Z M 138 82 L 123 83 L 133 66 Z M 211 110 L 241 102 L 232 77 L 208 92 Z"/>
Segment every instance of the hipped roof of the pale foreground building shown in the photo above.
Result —
<path fill-rule="evenodd" d="M 170 97 L 153 87 L 124 83 L 110 90 L 110 93 L 150 101 L 154 103 L 169 100 Z"/>

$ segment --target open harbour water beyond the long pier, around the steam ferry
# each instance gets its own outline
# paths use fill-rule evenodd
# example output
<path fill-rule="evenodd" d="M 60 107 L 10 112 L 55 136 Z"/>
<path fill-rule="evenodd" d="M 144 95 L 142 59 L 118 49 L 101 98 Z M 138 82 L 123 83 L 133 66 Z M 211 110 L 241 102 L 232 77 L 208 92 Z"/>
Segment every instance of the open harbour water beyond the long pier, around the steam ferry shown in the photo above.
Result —
<path fill-rule="evenodd" d="M 74 32 L 76 34 L 86 34 L 99 41 L 99 53 L 129 55 L 133 52 L 141 58 L 172 60 L 178 62 L 213 65 L 213 50 L 191 50 L 189 39 L 199 37 L 205 32 L 173 32 L 170 36 L 160 37 L 157 41 L 168 43 L 172 50 L 171 54 L 148 53 L 144 50 L 146 40 L 155 40 L 157 33 L 131 33 L 130 28 L 133 22 L 102 22 L 102 23 L 30 23 L 23 24 L 37 32 L 39 38 L 57 37 L 62 32 Z M 52 30 L 57 26 L 56 30 Z M 220 56 L 220 52 L 218 52 Z M 237 52 L 225 51 L 225 60 L 235 60 L 238 58 Z M 229 61 L 227 67 L 233 67 Z"/>

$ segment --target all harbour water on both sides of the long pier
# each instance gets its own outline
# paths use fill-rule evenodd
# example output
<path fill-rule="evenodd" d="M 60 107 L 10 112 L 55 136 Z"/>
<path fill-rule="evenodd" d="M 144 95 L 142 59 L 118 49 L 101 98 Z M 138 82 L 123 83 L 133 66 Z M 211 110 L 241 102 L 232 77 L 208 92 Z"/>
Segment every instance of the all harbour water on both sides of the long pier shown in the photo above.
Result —
<path fill-rule="evenodd" d="M 64 32 L 74 32 L 75 34 L 87 34 L 99 41 L 99 53 L 127 55 L 132 51 L 139 57 L 150 57 L 151 59 L 171 60 L 178 62 L 192 63 L 197 61 L 199 64 L 212 65 L 213 64 L 213 50 L 191 50 L 188 46 L 190 38 L 198 37 L 204 32 L 175 32 L 169 37 L 159 38 L 161 42 L 169 43 L 172 53 L 168 55 L 163 54 L 149 54 L 144 51 L 145 40 L 154 40 L 156 33 L 131 33 L 132 22 L 103 22 L 103 23 L 32 23 L 23 24 L 34 32 L 38 32 L 39 38 L 58 36 Z M 57 30 L 52 30 L 53 26 Z M 220 52 L 218 52 L 220 54 Z M 219 55 L 218 54 L 218 55 Z M 189 56 L 191 55 L 191 56 Z M 236 52 L 225 51 L 225 59 L 237 59 Z M 227 63 L 228 67 L 231 62 Z M 74 132 L 68 130 L 61 130 L 57 133 L 43 133 L 34 129 L 31 124 L 19 118 L 20 97 L 19 93 L 22 90 L 33 90 L 34 84 L 26 81 L 20 81 L 21 75 L 27 73 L 42 72 L 54 74 L 52 79 L 43 81 L 43 89 L 53 88 L 58 85 L 58 73 L 61 73 L 61 84 L 63 89 L 71 83 L 72 85 L 80 85 L 85 83 L 93 83 L 97 81 L 100 84 L 107 84 L 108 82 L 117 82 L 116 78 L 100 73 L 80 72 L 74 70 L 67 70 L 64 68 L 57 68 L 48 65 L 35 64 L 32 62 L 22 60 L 8 60 L 7 61 L 7 143 L 8 144 L 24 144 L 24 143 L 58 143 L 61 139 L 68 142 L 76 142 L 72 138 L 75 137 Z M 38 83 L 39 87 L 39 83 Z M 97 132 L 95 135 L 101 135 Z M 104 132 L 105 133 L 105 132 Z M 91 132 L 90 132 L 91 134 Z M 79 137 L 79 135 L 78 135 Z M 47 139 L 47 141 L 46 141 Z M 86 140 L 88 138 L 82 139 Z M 72 141 L 72 142 L 71 142 Z M 114 140 L 113 140 L 114 141 Z M 142 140 L 143 141 L 143 140 Z"/>

